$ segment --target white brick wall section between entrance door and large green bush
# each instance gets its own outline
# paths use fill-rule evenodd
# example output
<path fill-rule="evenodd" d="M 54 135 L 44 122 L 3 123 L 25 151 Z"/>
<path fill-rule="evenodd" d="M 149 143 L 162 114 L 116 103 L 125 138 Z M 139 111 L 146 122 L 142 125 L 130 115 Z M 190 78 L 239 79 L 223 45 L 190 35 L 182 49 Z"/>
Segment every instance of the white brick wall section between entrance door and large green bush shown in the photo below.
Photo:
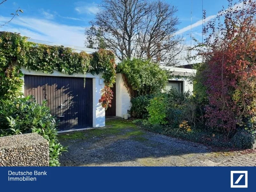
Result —
<path fill-rule="evenodd" d="M 131 97 L 124 85 L 121 73 L 116 74 L 116 116 L 122 117 L 131 108 Z"/>

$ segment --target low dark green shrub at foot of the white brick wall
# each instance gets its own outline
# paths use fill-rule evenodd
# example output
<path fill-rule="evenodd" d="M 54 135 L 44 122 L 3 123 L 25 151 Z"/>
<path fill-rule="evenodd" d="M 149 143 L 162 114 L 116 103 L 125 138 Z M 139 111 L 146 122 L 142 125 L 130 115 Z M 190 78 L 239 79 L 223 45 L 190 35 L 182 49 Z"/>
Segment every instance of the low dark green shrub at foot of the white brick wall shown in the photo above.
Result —
<path fill-rule="evenodd" d="M 149 101 L 154 98 L 153 95 L 141 95 L 131 99 L 131 109 L 128 113 L 136 118 L 147 118 Z"/>

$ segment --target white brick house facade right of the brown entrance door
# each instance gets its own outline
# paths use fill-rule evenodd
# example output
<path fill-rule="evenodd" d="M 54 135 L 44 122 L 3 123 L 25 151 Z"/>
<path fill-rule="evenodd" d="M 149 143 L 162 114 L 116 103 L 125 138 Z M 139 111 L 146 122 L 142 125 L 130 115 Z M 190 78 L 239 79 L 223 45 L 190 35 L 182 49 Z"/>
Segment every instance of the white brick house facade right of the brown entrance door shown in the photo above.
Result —
<path fill-rule="evenodd" d="M 182 81 L 183 92 L 193 92 L 193 84 L 188 81 L 188 77 L 196 74 L 195 69 L 165 67 L 166 70 L 172 71 L 173 75 L 180 76 L 179 78 L 169 79 L 170 81 Z M 120 73 L 116 74 L 116 116 L 124 117 L 128 114 L 127 111 L 131 108 L 131 97 L 127 88 L 124 85 L 124 80 Z"/>

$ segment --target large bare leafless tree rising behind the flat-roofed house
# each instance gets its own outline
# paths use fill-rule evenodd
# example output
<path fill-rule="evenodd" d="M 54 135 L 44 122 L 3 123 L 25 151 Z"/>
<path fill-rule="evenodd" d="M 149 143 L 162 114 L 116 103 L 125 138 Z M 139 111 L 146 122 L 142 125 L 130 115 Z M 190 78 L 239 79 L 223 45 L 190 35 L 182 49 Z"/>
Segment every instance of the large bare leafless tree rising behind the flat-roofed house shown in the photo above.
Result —
<path fill-rule="evenodd" d="M 132 57 L 172 65 L 182 51 L 181 38 L 174 37 L 177 9 L 167 3 L 142 0 L 103 0 L 92 26 L 85 30 L 86 45 L 101 34 L 106 48 L 119 60 Z"/>

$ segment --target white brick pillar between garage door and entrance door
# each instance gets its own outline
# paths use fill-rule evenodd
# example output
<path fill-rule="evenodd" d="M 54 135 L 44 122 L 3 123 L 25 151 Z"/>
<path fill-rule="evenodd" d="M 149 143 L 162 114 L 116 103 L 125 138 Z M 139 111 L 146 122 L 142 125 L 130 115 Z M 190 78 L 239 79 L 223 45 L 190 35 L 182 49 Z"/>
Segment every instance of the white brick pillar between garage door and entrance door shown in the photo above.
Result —
<path fill-rule="evenodd" d="M 101 98 L 101 89 L 104 87 L 103 80 L 100 78 L 92 79 L 92 126 L 104 127 L 105 126 L 105 108 L 101 106 L 99 100 Z"/>

